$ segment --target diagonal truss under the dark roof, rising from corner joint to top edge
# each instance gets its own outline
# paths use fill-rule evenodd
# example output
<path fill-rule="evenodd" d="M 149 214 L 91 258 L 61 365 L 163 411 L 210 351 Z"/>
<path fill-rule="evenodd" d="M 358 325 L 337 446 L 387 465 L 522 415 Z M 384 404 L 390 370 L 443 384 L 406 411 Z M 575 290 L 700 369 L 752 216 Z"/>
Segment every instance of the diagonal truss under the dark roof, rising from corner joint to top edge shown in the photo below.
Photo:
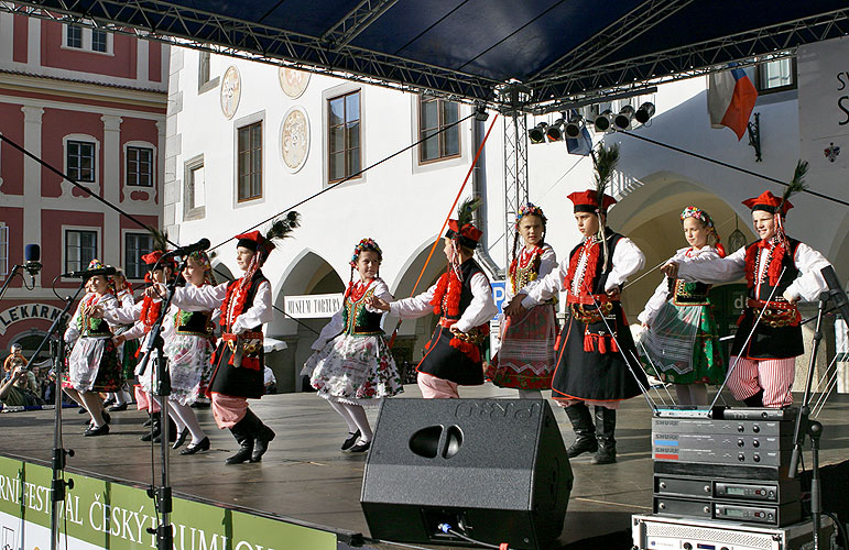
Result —
<path fill-rule="evenodd" d="M 613 21 L 592 38 L 533 75 L 535 81 L 556 75 L 569 74 L 580 67 L 595 66 L 611 53 L 620 50 L 641 34 L 650 31 L 694 0 L 646 0 L 623 16 Z"/>

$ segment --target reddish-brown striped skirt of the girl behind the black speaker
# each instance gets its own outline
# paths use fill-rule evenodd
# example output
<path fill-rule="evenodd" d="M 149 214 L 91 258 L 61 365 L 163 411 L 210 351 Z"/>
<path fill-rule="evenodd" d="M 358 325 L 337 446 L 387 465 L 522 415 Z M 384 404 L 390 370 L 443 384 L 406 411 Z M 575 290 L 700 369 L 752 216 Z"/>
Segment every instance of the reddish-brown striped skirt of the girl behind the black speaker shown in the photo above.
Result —
<path fill-rule="evenodd" d="M 554 306 L 543 304 L 504 318 L 501 348 L 485 374 L 499 387 L 549 389 L 557 363 Z"/>

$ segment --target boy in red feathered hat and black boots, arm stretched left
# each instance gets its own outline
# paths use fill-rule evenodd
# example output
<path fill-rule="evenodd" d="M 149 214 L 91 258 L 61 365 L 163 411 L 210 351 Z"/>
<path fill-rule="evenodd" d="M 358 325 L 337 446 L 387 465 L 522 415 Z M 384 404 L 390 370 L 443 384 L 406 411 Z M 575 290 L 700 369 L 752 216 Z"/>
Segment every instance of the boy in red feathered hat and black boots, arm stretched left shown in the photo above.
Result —
<path fill-rule="evenodd" d="M 239 443 L 227 464 L 260 462 L 274 439 L 274 431 L 248 407 L 248 399 L 259 399 L 265 393 L 262 326 L 274 318 L 271 283 L 261 267 L 274 250 L 274 240 L 287 237 L 298 220 L 300 215 L 292 211 L 274 221 L 264 235 L 259 231 L 236 235 L 236 263 L 244 272 L 241 278 L 218 286 L 187 285 L 174 293 L 173 302 L 183 310 L 220 308 L 224 332 L 213 354 L 207 393 L 216 424 L 229 428 Z"/>

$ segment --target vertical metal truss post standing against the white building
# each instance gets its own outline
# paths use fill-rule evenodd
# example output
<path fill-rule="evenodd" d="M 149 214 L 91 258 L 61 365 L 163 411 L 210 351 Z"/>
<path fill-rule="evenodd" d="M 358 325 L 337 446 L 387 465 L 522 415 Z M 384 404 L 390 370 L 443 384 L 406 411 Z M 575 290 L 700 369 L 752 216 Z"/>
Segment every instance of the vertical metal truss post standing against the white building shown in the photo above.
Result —
<path fill-rule="evenodd" d="M 504 117 L 504 265 L 515 238 L 515 213 L 527 202 L 527 114 L 518 110 Z"/>

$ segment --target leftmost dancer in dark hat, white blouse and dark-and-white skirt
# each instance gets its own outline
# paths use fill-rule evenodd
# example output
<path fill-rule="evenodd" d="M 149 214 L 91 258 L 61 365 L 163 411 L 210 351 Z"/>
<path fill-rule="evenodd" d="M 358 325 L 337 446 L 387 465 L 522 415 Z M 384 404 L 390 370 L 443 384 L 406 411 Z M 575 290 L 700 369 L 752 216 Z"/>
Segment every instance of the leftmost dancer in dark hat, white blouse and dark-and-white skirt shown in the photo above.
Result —
<path fill-rule="evenodd" d="M 89 270 L 106 267 L 99 260 L 92 260 Z M 73 345 L 68 358 L 68 372 L 63 388 L 72 399 L 88 410 L 91 424 L 85 436 L 109 433 L 109 415 L 104 410 L 99 392 L 117 392 L 123 385 L 118 346 L 112 341 L 112 328 L 91 312 L 97 306 L 112 308 L 116 298 L 112 284 L 104 275 L 89 278 L 89 293 L 77 306 L 74 317 L 65 331 L 65 342 Z"/>

